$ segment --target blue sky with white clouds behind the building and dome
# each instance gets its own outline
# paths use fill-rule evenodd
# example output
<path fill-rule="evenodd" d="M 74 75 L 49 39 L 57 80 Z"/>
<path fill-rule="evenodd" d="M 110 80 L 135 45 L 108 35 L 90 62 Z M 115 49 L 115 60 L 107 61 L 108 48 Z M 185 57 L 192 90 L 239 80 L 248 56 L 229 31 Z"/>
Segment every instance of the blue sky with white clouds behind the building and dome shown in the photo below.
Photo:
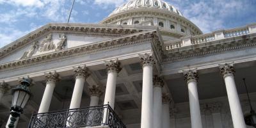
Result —
<path fill-rule="evenodd" d="M 127 0 L 76 0 L 70 22 L 97 23 Z M 166 0 L 204 33 L 256 22 L 256 0 Z M 0 0 L 0 47 L 49 22 L 67 22 L 72 0 Z"/>

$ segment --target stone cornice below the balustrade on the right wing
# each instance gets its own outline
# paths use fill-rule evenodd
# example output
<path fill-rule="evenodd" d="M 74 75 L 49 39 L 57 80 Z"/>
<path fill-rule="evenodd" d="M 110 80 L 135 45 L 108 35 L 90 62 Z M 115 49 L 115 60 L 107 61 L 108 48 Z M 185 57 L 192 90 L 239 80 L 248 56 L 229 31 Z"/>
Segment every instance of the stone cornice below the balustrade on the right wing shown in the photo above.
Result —
<path fill-rule="evenodd" d="M 196 44 L 182 47 L 182 49 L 172 49 L 168 51 L 168 54 L 166 54 L 163 61 L 182 61 L 196 56 L 207 56 L 211 54 L 220 54 L 225 51 L 236 51 L 237 49 L 255 47 L 255 45 L 255 37 L 251 38 L 248 35 L 244 35 L 241 36 L 240 39 L 234 37 L 206 42 L 205 44 L 202 44 L 201 47 L 198 47 L 199 45 Z"/>

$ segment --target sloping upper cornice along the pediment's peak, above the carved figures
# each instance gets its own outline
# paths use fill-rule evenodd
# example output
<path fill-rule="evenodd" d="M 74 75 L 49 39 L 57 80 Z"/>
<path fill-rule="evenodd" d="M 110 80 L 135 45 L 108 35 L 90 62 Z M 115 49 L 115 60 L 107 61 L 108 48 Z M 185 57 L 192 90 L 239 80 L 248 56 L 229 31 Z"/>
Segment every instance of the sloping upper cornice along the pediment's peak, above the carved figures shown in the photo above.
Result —
<path fill-rule="evenodd" d="M 15 42 L 0 49 L 0 59 L 8 56 L 20 48 L 34 42 L 48 33 L 66 33 L 77 35 L 95 35 L 95 36 L 125 36 L 132 33 L 138 33 L 148 29 L 156 29 L 156 27 L 141 26 L 134 28 L 134 26 L 120 26 L 115 24 L 65 24 L 53 23 L 42 26 L 35 31 L 29 33 Z"/>

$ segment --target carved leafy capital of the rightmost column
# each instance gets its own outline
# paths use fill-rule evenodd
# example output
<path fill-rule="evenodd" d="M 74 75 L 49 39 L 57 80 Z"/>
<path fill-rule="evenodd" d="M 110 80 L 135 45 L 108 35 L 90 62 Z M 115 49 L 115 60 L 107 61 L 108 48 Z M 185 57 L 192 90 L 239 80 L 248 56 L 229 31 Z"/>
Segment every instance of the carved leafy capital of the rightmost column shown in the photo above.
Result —
<path fill-rule="evenodd" d="M 235 72 L 236 71 L 233 64 L 225 63 L 224 65 L 220 65 L 220 74 L 223 77 L 234 75 Z"/>

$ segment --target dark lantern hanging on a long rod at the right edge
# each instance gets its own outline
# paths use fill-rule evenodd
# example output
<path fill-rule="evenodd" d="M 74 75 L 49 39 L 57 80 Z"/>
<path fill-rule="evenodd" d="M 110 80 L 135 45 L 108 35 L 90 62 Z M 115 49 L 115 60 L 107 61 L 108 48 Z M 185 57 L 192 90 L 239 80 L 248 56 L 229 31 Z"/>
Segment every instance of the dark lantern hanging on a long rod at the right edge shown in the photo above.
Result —
<path fill-rule="evenodd" d="M 256 127 L 256 113 L 252 109 L 252 104 L 251 104 L 251 100 L 250 100 L 248 90 L 247 90 L 247 86 L 246 86 L 246 83 L 245 83 L 245 78 L 243 78 L 243 81 L 244 81 L 244 86 L 245 86 L 245 89 L 246 89 L 247 97 L 248 97 L 250 108 L 251 108 L 250 114 L 244 115 L 244 121 L 245 121 L 246 125 Z"/>

